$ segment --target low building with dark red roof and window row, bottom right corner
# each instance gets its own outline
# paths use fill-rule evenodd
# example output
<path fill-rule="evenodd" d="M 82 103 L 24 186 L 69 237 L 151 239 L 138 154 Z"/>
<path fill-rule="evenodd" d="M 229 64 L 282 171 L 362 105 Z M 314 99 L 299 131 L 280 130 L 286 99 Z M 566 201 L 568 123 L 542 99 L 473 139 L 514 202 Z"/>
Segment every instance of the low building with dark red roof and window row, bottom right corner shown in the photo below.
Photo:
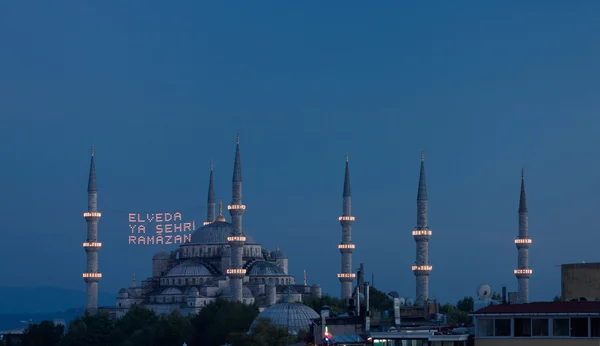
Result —
<path fill-rule="evenodd" d="M 473 316 L 475 346 L 600 344 L 600 302 L 490 305 Z"/>

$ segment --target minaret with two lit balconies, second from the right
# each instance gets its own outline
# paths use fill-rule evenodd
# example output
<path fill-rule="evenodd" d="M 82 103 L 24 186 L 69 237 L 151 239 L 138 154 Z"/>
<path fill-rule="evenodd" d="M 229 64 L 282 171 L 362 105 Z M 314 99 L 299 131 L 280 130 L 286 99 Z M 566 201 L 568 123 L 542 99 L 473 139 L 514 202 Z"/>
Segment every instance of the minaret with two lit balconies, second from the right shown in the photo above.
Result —
<path fill-rule="evenodd" d="M 429 298 L 429 238 L 431 230 L 427 224 L 427 183 L 425 182 L 425 153 L 421 152 L 421 173 L 419 174 L 419 191 L 417 193 L 417 227 L 413 237 L 417 243 L 417 260 L 412 271 L 417 280 L 415 304 L 423 306 Z"/>

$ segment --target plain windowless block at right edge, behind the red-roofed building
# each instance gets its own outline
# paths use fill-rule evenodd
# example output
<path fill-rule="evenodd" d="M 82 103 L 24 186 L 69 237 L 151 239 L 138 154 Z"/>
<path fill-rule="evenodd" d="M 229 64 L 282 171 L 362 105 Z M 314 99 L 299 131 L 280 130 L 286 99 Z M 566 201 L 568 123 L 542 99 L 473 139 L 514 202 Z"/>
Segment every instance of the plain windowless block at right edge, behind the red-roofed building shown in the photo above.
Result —
<path fill-rule="evenodd" d="M 563 301 L 600 300 L 600 263 L 573 263 L 560 266 Z"/>

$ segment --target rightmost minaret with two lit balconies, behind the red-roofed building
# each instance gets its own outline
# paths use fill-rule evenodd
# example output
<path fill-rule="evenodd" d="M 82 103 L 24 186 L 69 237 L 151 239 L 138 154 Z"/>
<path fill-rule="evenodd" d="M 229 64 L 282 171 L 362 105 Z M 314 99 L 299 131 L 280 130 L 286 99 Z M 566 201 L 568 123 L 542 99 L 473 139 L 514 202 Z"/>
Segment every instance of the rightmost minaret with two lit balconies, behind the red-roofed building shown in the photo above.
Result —
<path fill-rule="evenodd" d="M 518 298 L 519 303 L 529 302 L 529 278 L 533 271 L 529 269 L 529 247 L 531 238 L 529 238 L 529 216 L 527 212 L 527 196 L 525 195 L 525 176 L 521 170 L 521 198 L 519 199 L 519 236 L 515 239 L 515 245 L 519 251 L 518 269 L 515 269 L 515 275 L 519 283 Z"/>

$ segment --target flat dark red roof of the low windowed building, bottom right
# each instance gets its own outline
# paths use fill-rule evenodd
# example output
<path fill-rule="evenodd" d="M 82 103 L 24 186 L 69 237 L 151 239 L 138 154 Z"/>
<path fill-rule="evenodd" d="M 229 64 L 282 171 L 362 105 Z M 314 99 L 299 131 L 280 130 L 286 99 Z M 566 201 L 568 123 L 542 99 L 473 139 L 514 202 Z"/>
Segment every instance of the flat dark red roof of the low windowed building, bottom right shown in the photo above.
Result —
<path fill-rule="evenodd" d="M 600 313 L 600 301 L 594 302 L 536 302 L 526 304 L 490 305 L 475 311 L 482 314 L 553 314 Z"/>

